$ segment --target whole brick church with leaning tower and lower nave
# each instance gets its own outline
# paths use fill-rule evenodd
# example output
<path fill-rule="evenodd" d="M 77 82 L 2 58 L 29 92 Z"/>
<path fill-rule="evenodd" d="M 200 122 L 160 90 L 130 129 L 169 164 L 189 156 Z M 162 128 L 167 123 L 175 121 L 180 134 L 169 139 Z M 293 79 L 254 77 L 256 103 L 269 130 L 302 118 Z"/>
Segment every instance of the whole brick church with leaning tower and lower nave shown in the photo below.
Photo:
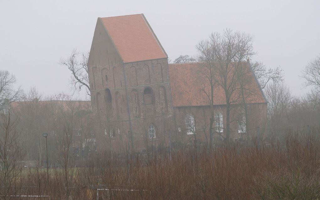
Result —
<path fill-rule="evenodd" d="M 249 115 L 234 104 L 230 140 L 263 136 L 267 101 L 252 72 Z M 143 14 L 98 18 L 88 58 L 91 103 L 100 150 L 135 152 L 208 145 L 214 109 L 214 141 L 224 140 L 226 98 L 214 91 L 210 106 L 207 80 L 199 63 L 169 64 L 156 34 Z"/>

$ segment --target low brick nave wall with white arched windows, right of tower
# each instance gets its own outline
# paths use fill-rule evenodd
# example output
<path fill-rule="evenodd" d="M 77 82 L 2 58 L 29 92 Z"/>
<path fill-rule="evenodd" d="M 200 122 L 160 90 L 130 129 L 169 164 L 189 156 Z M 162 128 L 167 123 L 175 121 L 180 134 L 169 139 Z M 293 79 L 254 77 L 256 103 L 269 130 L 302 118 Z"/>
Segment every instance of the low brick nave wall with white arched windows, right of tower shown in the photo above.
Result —
<path fill-rule="evenodd" d="M 221 113 L 223 124 L 226 124 L 226 106 L 217 105 L 214 107 L 215 113 Z M 240 107 L 233 107 L 230 112 L 230 138 L 237 140 L 241 137 L 247 138 L 247 133 L 238 132 L 239 113 L 244 112 Z M 193 106 L 193 107 L 175 107 L 174 115 L 176 118 L 176 130 L 173 135 L 174 140 L 179 144 L 193 144 L 195 139 L 198 143 L 208 144 L 210 141 L 210 108 L 209 106 Z M 185 117 L 191 115 L 195 121 L 195 133 L 188 135 L 186 132 Z M 258 132 L 264 137 L 265 128 L 267 126 L 267 103 L 248 104 L 248 119 L 246 119 L 246 129 L 251 136 L 257 136 Z M 259 129 L 257 128 L 259 127 Z M 214 140 L 218 140 L 215 133 Z"/>

